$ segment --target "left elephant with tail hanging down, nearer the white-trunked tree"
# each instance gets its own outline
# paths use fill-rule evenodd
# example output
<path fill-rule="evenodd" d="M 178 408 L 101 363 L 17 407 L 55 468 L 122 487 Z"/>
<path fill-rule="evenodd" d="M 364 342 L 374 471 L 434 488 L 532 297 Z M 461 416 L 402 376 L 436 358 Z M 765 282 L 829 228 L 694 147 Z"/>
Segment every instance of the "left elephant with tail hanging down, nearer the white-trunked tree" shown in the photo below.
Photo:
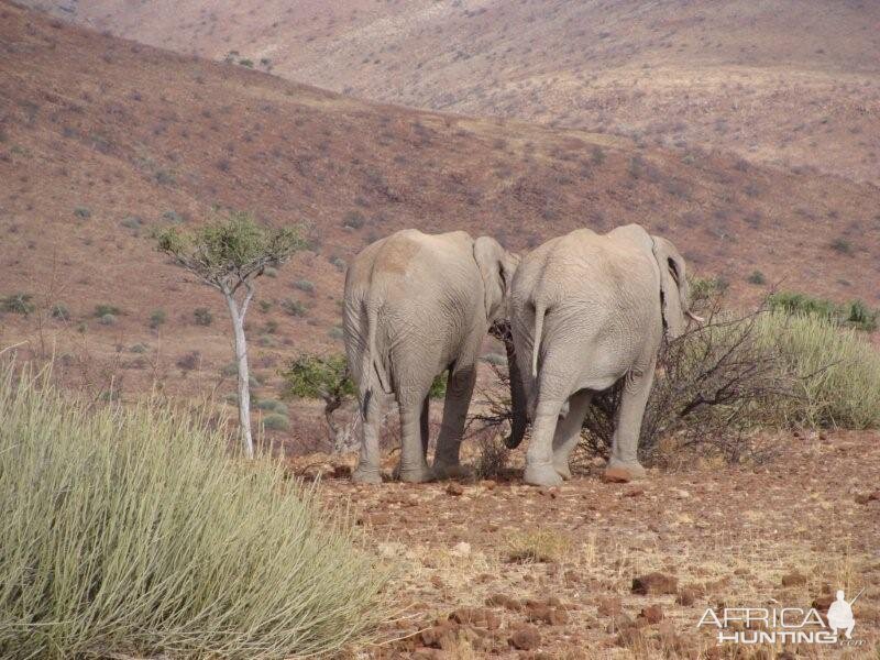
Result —
<path fill-rule="evenodd" d="M 382 406 L 400 414 L 399 477 L 421 482 L 460 474 L 459 450 L 490 326 L 506 314 L 518 257 L 490 237 L 398 231 L 365 248 L 345 276 L 343 332 L 363 424 L 354 481 L 381 482 Z M 449 372 L 433 471 L 428 450 L 428 392 Z M 515 405 L 525 395 L 514 386 Z"/>

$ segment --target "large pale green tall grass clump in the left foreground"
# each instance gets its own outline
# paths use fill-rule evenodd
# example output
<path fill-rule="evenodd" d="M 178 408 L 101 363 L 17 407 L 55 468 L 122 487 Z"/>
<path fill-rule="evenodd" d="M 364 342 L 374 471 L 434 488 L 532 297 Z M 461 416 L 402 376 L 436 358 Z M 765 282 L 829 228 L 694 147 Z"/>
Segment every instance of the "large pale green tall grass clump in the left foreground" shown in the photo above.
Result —
<path fill-rule="evenodd" d="M 384 573 L 206 414 L 0 366 L 0 657 L 286 658 L 362 640 Z"/>

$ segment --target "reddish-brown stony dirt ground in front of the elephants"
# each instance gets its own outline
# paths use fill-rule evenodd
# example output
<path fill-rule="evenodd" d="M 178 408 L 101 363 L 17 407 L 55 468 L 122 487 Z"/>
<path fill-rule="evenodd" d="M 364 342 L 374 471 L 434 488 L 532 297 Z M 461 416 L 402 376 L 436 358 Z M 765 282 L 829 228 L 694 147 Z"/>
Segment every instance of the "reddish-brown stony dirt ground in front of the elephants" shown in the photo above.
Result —
<path fill-rule="evenodd" d="M 327 502 L 350 499 L 394 566 L 397 618 L 358 657 L 877 658 L 880 435 L 774 440 L 781 452 L 763 465 L 604 483 L 595 461 L 549 490 L 524 485 L 516 469 L 370 487 L 349 481 L 353 457 L 295 466 L 324 473 Z M 716 627 L 697 628 L 706 608 L 825 616 L 837 588 L 847 600 L 865 590 L 849 646 L 719 646 Z"/>

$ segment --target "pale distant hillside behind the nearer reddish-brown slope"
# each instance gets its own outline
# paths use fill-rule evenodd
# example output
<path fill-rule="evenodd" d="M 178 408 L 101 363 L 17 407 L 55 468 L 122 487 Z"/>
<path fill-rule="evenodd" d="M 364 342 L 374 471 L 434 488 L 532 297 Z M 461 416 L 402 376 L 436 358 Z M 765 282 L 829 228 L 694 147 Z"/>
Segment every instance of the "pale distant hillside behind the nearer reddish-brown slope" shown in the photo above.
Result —
<path fill-rule="evenodd" d="M 880 184 L 880 4 L 868 0 L 31 3 L 353 96 Z"/>

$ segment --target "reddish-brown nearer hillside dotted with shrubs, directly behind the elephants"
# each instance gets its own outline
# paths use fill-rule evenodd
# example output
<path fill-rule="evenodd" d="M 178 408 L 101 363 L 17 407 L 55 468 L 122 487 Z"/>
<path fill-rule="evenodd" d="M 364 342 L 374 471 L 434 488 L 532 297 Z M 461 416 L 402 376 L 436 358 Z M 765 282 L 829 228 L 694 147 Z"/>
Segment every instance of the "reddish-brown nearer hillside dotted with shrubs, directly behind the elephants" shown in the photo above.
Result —
<path fill-rule="evenodd" d="M 156 226 L 204 222 L 217 207 L 310 223 L 312 250 L 264 278 L 250 316 L 267 378 L 283 356 L 341 349 L 345 261 L 404 227 L 492 233 L 521 251 L 576 227 L 641 222 L 740 300 L 778 282 L 875 306 L 880 295 L 872 185 L 696 147 L 369 103 L 8 1 L 0 180 L 0 298 L 28 294 L 35 306 L 0 316 L 0 346 L 29 340 L 50 352 L 57 341 L 68 362 L 105 361 L 99 373 L 82 366 L 85 381 L 112 374 L 123 389 L 158 375 L 191 391 L 229 362 L 221 300 L 150 239 Z M 748 283 L 755 271 L 768 284 Z M 197 322 L 200 307 L 210 326 Z"/>

